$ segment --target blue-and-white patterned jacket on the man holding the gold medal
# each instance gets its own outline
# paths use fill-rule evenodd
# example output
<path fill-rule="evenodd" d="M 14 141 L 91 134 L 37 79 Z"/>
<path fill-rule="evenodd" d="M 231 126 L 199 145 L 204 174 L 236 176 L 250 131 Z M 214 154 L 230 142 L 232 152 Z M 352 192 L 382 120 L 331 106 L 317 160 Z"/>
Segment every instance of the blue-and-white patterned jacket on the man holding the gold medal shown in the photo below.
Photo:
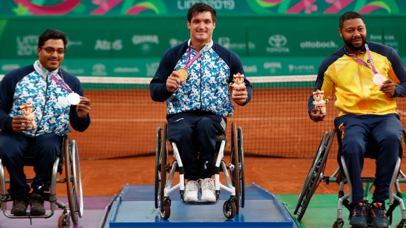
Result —
<path fill-rule="evenodd" d="M 234 113 L 231 103 L 229 83 L 232 75 L 244 74 L 241 60 L 234 52 L 214 43 L 212 48 L 203 52 L 189 67 L 189 78 L 180 83 L 173 93 L 166 90 L 166 79 L 177 69 L 184 67 L 190 40 L 167 50 L 159 63 L 158 70 L 150 83 L 150 93 L 154 101 L 166 100 L 167 114 L 176 114 L 191 110 L 210 111 L 223 117 Z M 190 60 L 198 52 L 192 48 Z M 245 78 L 248 99 L 252 96 L 252 86 Z"/>

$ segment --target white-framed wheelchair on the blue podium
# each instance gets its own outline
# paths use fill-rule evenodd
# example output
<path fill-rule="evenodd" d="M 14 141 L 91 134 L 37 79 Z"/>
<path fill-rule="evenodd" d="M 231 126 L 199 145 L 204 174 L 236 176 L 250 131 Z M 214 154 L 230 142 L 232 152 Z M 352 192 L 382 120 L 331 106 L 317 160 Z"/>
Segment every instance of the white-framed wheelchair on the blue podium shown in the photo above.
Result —
<path fill-rule="evenodd" d="M 184 168 L 180 159 L 176 143 L 172 143 L 174 149 L 174 159 L 168 161 L 168 149 L 166 138 L 167 124 L 164 123 L 162 129 L 158 127 L 156 137 L 156 157 L 155 157 L 155 208 L 159 208 L 161 218 L 168 219 L 171 215 L 171 199 L 169 194 L 179 189 L 181 202 L 185 205 L 209 205 L 217 204 L 220 197 L 220 189 L 230 193 L 230 197 L 223 204 L 223 214 L 231 219 L 239 212 L 239 207 L 244 208 L 244 144 L 242 128 L 236 128 L 231 123 L 231 154 L 228 166 L 224 162 L 224 147 L 226 137 L 224 134 L 216 136 L 216 147 L 219 151 L 215 160 L 215 202 L 185 202 Z M 229 171 L 229 172 L 228 172 Z M 179 183 L 174 186 L 172 180 L 175 172 L 179 172 Z M 220 183 L 220 172 L 224 173 L 227 185 Z"/>

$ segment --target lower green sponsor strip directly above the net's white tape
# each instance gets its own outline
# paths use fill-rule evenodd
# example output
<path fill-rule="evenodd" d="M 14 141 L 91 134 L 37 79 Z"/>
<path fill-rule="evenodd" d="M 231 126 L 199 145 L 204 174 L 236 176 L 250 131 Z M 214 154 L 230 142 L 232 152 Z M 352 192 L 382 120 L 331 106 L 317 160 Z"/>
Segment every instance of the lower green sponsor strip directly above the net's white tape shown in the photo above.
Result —
<path fill-rule="evenodd" d="M 0 74 L 32 64 L 32 60 L 0 60 Z M 158 58 L 146 59 L 70 59 L 62 68 L 76 76 L 93 77 L 149 77 L 158 69 Z M 276 76 L 316 74 L 322 58 L 242 58 L 246 75 Z"/>

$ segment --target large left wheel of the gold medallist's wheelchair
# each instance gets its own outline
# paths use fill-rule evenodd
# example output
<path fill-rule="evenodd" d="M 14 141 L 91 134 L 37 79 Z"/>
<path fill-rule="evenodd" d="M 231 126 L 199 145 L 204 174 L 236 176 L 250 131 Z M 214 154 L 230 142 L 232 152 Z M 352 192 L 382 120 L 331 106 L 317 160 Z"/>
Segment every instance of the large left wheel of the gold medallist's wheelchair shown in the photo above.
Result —
<path fill-rule="evenodd" d="M 158 167 L 160 169 L 159 172 L 159 199 L 161 201 L 161 205 L 162 202 L 164 201 L 163 198 L 163 189 L 165 188 L 165 184 L 166 184 L 166 170 L 165 170 L 165 166 L 167 165 L 167 158 L 168 158 L 168 150 L 166 148 L 166 128 L 167 128 L 167 124 L 164 123 L 163 124 L 163 128 L 162 128 L 162 138 L 161 138 L 161 150 L 160 150 L 160 159 L 159 159 L 159 164 Z M 169 217 L 169 216 L 168 216 Z"/>

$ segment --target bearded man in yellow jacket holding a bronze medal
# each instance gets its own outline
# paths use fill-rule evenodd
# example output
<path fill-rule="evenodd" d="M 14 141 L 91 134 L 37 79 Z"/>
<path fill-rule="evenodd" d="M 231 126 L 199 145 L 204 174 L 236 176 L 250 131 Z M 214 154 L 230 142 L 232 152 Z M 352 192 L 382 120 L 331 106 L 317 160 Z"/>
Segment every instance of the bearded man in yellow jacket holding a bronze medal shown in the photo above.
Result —
<path fill-rule="evenodd" d="M 360 14 L 343 14 L 339 34 L 344 47 L 322 62 L 314 91 L 324 91 L 326 99 L 334 91 L 334 106 L 340 110 L 334 127 L 353 189 L 350 227 L 366 227 L 368 216 L 373 227 L 388 227 L 385 200 L 402 137 L 395 98 L 406 95 L 406 70 L 395 50 L 365 40 L 366 27 Z M 326 115 L 315 108 L 313 100 L 311 96 L 309 116 L 314 122 L 323 121 Z M 379 145 L 370 208 L 363 201 L 361 180 L 368 138 Z"/>

